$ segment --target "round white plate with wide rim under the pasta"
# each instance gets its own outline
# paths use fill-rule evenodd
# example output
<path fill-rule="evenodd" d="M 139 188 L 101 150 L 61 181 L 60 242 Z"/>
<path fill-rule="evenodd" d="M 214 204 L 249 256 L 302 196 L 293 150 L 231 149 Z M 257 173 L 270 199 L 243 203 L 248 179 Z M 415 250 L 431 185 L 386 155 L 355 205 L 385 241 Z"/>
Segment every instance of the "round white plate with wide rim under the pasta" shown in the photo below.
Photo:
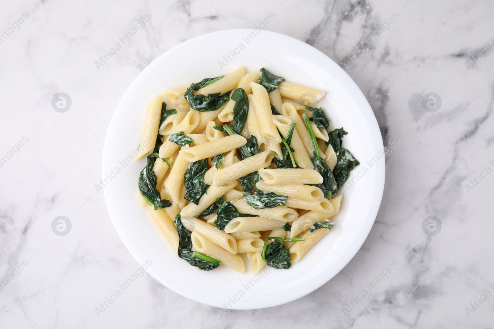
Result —
<path fill-rule="evenodd" d="M 209 33 L 185 41 L 158 57 L 135 78 L 122 97 L 106 135 L 108 148 L 103 150 L 103 177 L 112 176 L 104 188 L 108 211 L 130 254 L 139 264 L 150 259 L 152 265 L 147 272 L 172 291 L 229 309 L 280 305 L 328 282 L 364 243 L 384 187 L 379 127 L 369 103 L 350 76 L 325 54 L 302 41 L 269 31 L 256 35 L 253 31 Z M 252 32 L 255 37 L 250 37 L 247 44 L 247 36 Z M 241 51 L 240 44 L 244 45 Z M 228 60 L 228 55 L 234 52 L 238 54 L 230 55 Z M 227 66 L 220 68 L 219 61 Z M 329 234 L 289 269 L 266 267 L 263 275 L 258 276 L 250 274 L 249 261 L 244 274 L 232 273 L 225 266 L 209 272 L 198 271 L 173 255 L 168 245 L 164 248 L 165 238 L 147 209 L 137 201 L 137 181 L 145 159 L 130 164 L 123 162 L 139 144 L 146 105 L 151 98 L 205 77 L 229 73 L 239 65 L 247 72 L 266 67 L 289 82 L 324 90 L 326 97 L 320 106 L 334 127 L 344 127 L 349 133 L 343 144 L 361 162 L 352 171 L 353 187 L 344 191 L 341 211 L 332 218 L 336 225 Z M 377 164 L 366 163 L 375 155 L 379 158 Z M 350 187 L 349 182 L 346 184 Z"/>

